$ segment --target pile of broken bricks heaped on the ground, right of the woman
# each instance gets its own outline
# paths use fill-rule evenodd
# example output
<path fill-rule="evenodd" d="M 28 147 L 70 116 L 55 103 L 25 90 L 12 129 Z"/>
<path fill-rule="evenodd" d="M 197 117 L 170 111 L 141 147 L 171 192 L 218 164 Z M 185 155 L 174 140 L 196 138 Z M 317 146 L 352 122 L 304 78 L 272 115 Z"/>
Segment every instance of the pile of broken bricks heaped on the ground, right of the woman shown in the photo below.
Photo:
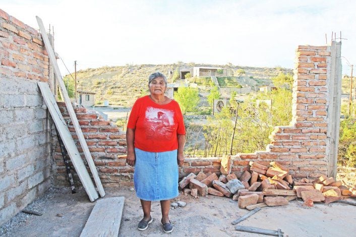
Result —
<path fill-rule="evenodd" d="M 179 183 L 184 195 L 208 194 L 232 197 L 240 208 L 253 210 L 265 206 L 287 205 L 289 201 L 302 198 L 304 205 L 312 207 L 314 202 L 331 203 L 345 197 L 356 197 L 356 188 L 349 189 L 341 181 L 322 175 L 317 180 L 292 180 L 288 168 L 278 162 L 270 166 L 251 161 L 250 172 L 245 171 L 238 179 L 230 168 L 221 166 L 221 175 L 216 173 L 190 173 Z M 189 188 L 187 188 L 189 185 Z"/>

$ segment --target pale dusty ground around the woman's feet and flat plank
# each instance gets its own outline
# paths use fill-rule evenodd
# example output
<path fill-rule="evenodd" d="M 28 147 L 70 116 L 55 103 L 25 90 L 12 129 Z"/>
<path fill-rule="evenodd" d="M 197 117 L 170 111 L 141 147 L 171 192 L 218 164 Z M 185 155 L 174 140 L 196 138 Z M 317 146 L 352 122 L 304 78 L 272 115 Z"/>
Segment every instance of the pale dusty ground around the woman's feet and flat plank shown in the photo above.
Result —
<path fill-rule="evenodd" d="M 125 205 L 118 236 L 165 236 L 160 224 L 159 202 L 152 203 L 153 222 L 145 231 L 137 229 L 142 218 L 140 202 L 130 188 L 105 188 L 106 197 L 124 196 Z M 185 207 L 170 210 L 174 225 L 172 236 L 264 236 L 234 230 L 231 221 L 249 211 L 240 209 L 237 202 L 215 196 L 176 198 L 187 203 Z M 350 199 L 356 203 L 356 200 Z M 50 189 L 27 208 L 43 213 L 34 216 L 19 213 L 0 227 L 0 236 L 79 236 L 90 212 L 91 203 L 84 190 L 72 194 L 69 189 Z M 356 232 L 356 206 L 331 203 L 303 206 L 294 200 L 287 206 L 264 207 L 239 223 L 277 230 L 284 236 L 345 236 Z M 352 235 L 352 234 L 351 234 Z"/>

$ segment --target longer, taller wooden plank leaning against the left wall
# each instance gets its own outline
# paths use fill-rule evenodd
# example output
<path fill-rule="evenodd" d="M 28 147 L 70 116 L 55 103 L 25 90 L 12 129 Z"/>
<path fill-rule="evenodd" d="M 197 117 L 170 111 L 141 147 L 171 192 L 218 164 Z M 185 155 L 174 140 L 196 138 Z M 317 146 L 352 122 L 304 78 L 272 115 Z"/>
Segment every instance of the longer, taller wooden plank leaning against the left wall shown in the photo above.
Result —
<path fill-rule="evenodd" d="M 48 39 L 48 36 L 46 34 L 46 30 L 44 29 L 44 26 L 43 26 L 41 18 L 36 16 L 36 19 L 37 19 L 37 23 L 38 23 L 38 26 L 39 26 L 39 29 L 40 29 L 40 32 L 41 32 L 41 35 L 42 35 L 42 39 L 43 39 L 44 45 L 46 46 L 46 49 L 47 49 L 49 61 L 50 61 L 50 63 L 52 64 L 52 66 L 54 68 L 54 72 L 55 72 L 55 76 L 56 76 L 57 81 L 58 81 L 58 85 L 61 88 L 62 95 L 64 97 L 64 101 L 66 102 L 66 106 L 67 106 L 67 109 L 68 109 L 69 116 L 71 117 L 71 121 L 72 121 L 74 129 L 75 129 L 75 131 L 77 133 L 78 140 L 79 140 L 80 145 L 81 145 L 81 147 L 83 149 L 83 152 L 84 152 L 84 155 L 85 155 L 85 159 L 87 160 L 89 168 L 90 168 L 90 171 L 93 174 L 93 178 L 94 178 L 96 187 L 98 188 L 99 194 L 100 194 L 101 197 L 104 197 L 105 196 L 104 188 L 102 187 L 98 171 L 96 170 L 96 167 L 95 167 L 93 158 L 91 157 L 88 145 L 87 145 L 87 143 L 85 141 L 84 135 L 83 135 L 82 130 L 81 130 L 80 126 L 79 126 L 79 122 L 78 122 L 77 116 L 76 116 L 76 114 L 74 112 L 74 109 L 73 109 L 73 106 L 72 106 L 72 102 L 71 102 L 71 100 L 70 100 L 70 98 L 68 96 L 68 92 L 67 92 L 66 86 L 64 84 L 64 81 L 62 79 L 60 68 L 58 68 L 57 61 L 56 61 L 55 56 L 54 56 L 53 48 L 49 43 L 49 39 Z"/>

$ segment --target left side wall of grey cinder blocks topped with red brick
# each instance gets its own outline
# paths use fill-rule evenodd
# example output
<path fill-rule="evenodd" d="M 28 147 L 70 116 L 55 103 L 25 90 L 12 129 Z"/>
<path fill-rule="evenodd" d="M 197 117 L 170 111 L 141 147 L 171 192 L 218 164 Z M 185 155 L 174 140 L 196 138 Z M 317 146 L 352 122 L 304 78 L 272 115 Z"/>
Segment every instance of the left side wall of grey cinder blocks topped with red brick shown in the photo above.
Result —
<path fill-rule="evenodd" d="M 48 81 L 38 32 L 0 10 L 0 225 L 50 186 L 50 140 L 37 81 Z"/>

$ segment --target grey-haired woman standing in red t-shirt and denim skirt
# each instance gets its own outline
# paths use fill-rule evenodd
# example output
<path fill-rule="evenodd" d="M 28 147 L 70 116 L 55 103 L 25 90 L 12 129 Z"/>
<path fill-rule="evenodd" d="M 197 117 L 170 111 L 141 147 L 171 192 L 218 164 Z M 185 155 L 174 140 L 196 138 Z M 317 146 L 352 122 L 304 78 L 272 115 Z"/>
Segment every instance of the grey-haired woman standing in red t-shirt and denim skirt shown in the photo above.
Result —
<path fill-rule="evenodd" d="M 170 199 L 178 193 L 178 165 L 184 162 L 186 129 L 177 102 L 166 97 L 166 77 L 159 72 L 148 78 L 150 95 L 136 100 L 127 132 L 127 162 L 135 165 L 134 184 L 141 200 L 143 218 L 139 230 L 152 222 L 151 202 L 160 201 L 163 230 L 170 233 Z"/>

